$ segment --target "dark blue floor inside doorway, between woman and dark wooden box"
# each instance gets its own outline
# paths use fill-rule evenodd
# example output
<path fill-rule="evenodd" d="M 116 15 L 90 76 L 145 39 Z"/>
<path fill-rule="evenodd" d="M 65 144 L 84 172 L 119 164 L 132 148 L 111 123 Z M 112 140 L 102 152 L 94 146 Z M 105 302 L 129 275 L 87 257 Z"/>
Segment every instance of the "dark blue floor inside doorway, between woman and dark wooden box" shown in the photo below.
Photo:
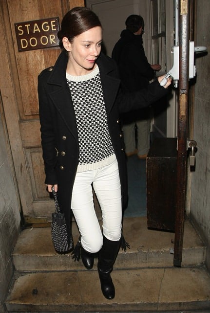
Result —
<path fill-rule="evenodd" d="M 127 167 L 129 201 L 124 216 L 146 216 L 146 160 L 129 156 Z"/>

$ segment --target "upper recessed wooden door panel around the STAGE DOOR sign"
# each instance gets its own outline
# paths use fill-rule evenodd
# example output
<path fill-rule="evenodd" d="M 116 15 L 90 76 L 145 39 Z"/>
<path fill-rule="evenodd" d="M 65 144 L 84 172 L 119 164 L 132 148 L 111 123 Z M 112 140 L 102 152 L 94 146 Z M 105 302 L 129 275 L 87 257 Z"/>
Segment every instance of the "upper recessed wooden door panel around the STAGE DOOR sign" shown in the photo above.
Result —
<path fill-rule="evenodd" d="M 53 60 L 55 63 L 60 53 L 60 48 L 46 48 L 47 51 L 45 52 L 45 49 L 19 52 L 14 25 L 17 22 L 27 22 L 53 17 L 58 17 L 59 22 L 61 22 L 63 15 L 61 1 L 54 0 L 50 5 L 46 5 L 46 1 L 44 0 L 11 0 L 8 1 L 8 8 L 19 77 L 17 93 L 20 92 L 21 94 L 19 97 L 21 99 L 19 102 L 20 119 L 38 118 L 38 73 L 45 67 L 51 66 Z M 33 37 L 33 34 L 31 34 L 31 36 Z"/>

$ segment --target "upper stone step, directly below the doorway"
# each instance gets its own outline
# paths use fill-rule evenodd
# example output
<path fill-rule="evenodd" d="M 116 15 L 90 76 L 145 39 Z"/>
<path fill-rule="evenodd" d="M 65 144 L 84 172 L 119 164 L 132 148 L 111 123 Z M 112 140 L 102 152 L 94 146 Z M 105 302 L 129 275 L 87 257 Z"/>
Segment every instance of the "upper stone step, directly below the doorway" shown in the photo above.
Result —
<path fill-rule="evenodd" d="M 203 265 L 206 247 L 188 220 L 184 228 L 182 266 Z M 75 222 L 73 234 L 76 244 L 78 229 Z M 126 252 L 120 249 L 115 268 L 173 266 L 174 233 L 148 229 L 146 217 L 134 217 L 124 219 L 123 234 L 131 248 Z M 75 262 L 71 254 L 60 255 L 55 252 L 50 227 L 24 229 L 19 235 L 12 258 L 17 271 L 84 270 L 81 261 Z"/>

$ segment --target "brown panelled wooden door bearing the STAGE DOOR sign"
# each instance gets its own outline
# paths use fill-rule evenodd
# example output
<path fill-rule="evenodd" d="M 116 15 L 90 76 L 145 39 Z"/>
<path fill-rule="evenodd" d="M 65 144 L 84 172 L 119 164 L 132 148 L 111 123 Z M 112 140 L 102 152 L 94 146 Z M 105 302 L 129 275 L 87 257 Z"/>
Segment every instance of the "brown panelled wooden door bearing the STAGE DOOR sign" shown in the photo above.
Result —
<path fill-rule="evenodd" d="M 15 23 L 55 17 L 61 22 L 75 6 L 84 6 L 84 0 L 0 1 L 0 92 L 26 223 L 51 220 L 53 203 L 44 185 L 37 77 L 42 69 L 55 64 L 60 48 L 19 51 Z"/>

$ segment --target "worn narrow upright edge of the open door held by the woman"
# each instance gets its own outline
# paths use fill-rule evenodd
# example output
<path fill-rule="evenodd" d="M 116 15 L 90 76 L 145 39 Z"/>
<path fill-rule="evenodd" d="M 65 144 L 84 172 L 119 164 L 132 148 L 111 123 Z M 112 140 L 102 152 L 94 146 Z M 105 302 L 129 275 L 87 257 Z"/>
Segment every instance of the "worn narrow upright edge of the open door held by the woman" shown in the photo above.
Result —
<path fill-rule="evenodd" d="M 192 40 L 194 1 L 179 0 L 179 104 L 177 135 L 176 223 L 173 265 L 182 264 L 187 184 L 189 129 L 189 51 Z"/>

